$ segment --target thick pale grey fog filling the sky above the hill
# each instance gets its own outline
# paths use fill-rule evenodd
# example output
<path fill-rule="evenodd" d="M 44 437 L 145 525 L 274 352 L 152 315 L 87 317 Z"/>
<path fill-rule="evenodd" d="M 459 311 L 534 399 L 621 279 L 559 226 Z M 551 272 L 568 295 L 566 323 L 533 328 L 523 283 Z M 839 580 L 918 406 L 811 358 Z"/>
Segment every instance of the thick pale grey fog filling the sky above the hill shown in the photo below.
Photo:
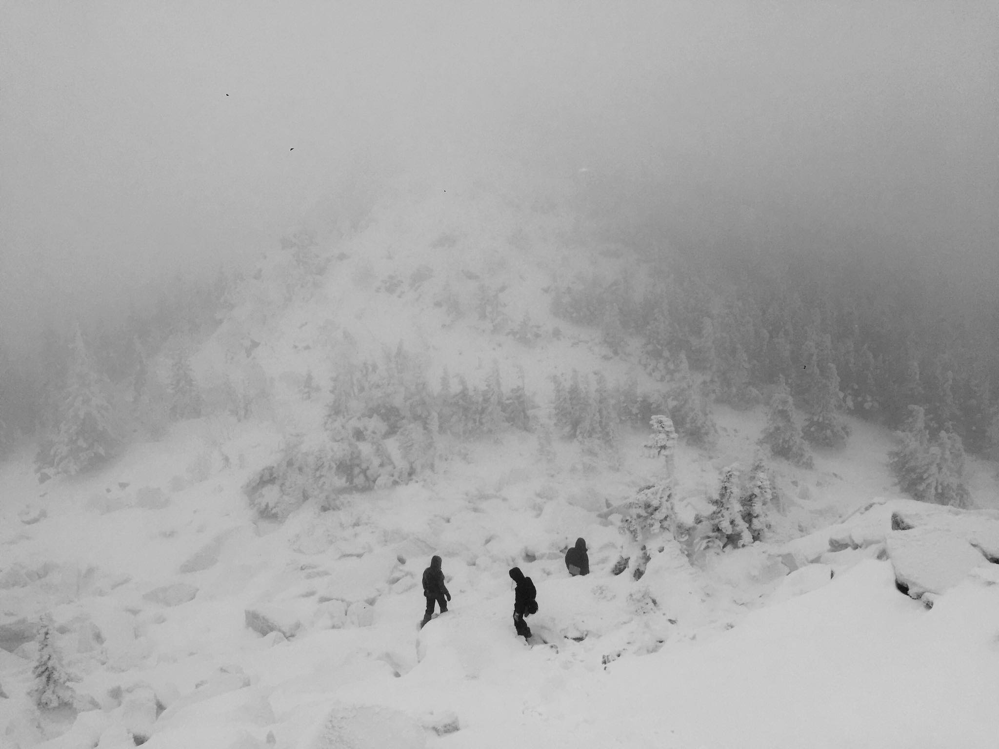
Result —
<path fill-rule="evenodd" d="M 3 331 L 214 273 L 445 157 L 585 167 L 680 249 L 989 279 L 997 123 L 994 2 L 8 2 Z"/>

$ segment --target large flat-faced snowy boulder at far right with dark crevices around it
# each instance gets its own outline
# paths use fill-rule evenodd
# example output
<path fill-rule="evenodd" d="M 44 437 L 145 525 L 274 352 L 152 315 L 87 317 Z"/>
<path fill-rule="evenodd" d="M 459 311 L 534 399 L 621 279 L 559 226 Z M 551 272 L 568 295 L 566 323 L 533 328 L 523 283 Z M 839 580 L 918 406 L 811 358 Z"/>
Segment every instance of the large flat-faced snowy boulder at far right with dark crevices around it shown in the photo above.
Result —
<path fill-rule="evenodd" d="M 966 538 L 935 526 L 893 530 L 887 548 L 896 582 L 913 598 L 943 593 L 989 563 Z"/>

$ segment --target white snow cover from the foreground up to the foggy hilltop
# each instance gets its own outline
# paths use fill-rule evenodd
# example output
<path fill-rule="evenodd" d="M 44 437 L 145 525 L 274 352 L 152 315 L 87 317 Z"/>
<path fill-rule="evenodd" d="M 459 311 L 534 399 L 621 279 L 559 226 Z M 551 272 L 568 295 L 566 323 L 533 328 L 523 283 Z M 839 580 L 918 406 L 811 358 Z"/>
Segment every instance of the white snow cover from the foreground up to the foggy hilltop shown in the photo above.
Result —
<path fill-rule="evenodd" d="M 404 341 L 432 379 L 448 366 L 474 381 L 496 359 L 505 383 L 520 368 L 542 399 L 555 372 L 642 375 L 633 351 L 611 357 L 597 333 L 547 314 L 553 279 L 612 274 L 621 248 L 583 248 L 583 263 L 583 233 L 557 204 L 446 189 L 400 187 L 337 240 L 311 296 L 289 301 L 287 259 L 265 259 L 195 364 L 208 390 L 224 375 L 266 389 L 270 415 L 176 424 L 94 475 L 42 486 L 29 455 L 0 465 L 0 746 L 995 747 L 999 565 L 986 559 L 994 536 L 969 531 L 995 513 L 864 509 L 892 493 L 889 443 L 869 424 L 814 470 L 777 466 L 770 542 L 691 565 L 662 540 L 638 581 L 611 575 L 637 549 L 600 513 L 656 472 L 639 434 L 616 460 L 566 443 L 544 458 L 523 433 L 451 441 L 411 485 L 334 511 L 307 504 L 283 524 L 254 516 L 240 487 L 285 434 L 316 433 L 322 405 L 299 388 L 310 371 L 328 381 L 340 357 Z M 480 284 L 507 302 L 504 325 L 529 314 L 533 346 L 478 320 Z M 436 306 L 446 294 L 464 317 Z M 678 447 L 684 511 L 720 467 L 750 459 L 764 417 L 715 416 L 716 448 Z M 987 471 L 975 482 L 994 504 Z M 893 513 L 914 527 L 893 529 Z M 577 536 L 585 578 L 562 563 Z M 435 553 L 452 610 L 419 630 Z M 514 564 L 537 586 L 528 622 L 548 645 L 514 634 Z M 75 724 L 40 720 L 27 697 L 45 610 L 81 707 L 96 708 Z"/>

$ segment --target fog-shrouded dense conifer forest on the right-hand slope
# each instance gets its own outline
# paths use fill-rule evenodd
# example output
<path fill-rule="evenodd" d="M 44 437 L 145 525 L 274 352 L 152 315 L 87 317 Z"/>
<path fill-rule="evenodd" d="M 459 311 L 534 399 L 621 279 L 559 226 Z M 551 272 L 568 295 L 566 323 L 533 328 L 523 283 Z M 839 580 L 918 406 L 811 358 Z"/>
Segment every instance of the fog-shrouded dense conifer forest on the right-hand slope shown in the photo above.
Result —
<path fill-rule="evenodd" d="M 782 377 L 816 446 L 845 443 L 841 413 L 897 428 L 919 405 L 932 433 L 999 457 L 995 311 L 958 310 L 959 298 L 931 293 L 912 269 L 904 285 L 884 269 L 829 264 L 761 258 L 723 273 L 676 257 L 643 267 L 640 280 L 593 274 L 556 284 L 551 312 L 604 340 L 614 332 L 613 350 L 630 347 L 659 378 L 682 355 L 706 398 L 736 407 L 770 398 Z"/>

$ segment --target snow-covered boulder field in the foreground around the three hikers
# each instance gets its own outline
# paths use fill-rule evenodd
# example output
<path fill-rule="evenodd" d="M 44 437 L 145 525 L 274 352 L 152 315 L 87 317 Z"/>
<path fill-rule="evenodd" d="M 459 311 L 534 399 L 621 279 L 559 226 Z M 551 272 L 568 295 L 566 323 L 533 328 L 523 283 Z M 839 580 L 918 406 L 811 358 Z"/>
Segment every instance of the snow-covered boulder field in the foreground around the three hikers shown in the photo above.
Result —
<path fill-rule="evenodd" d="M 248 449 L 257 438 L 234 437 Z M 176 434 L 156 463 L 139 452 L 116 475 L 153 483 L 198 444 Z M 4 574 L 44 573 L 3 589 L 5 620 L 52 608 L 77 691 L 101 706 L 42 745 L 124 746 L 114 742 L 126 725 L 149 731 L 146 746 L 178 749 L 265 747 L 269 736 L 290 749 L 995 745 L 999 567 L 985 562 L 928 610 L 876 558 L 892 511 L 920 522 L 953 513 L 874 505 L 703 570 L 665 544 L 636 582 L 610 574 L 622 537 L 573 504 L 571 487 L 540 500 L 540 479 L 523 471 L 484 490 L 476 474 L 516 454 L 494 445 L 433 482 L 337 512 L 305 507 L 282 526 L 255 523 L 233 469 L 166 491 L 159 508 L 134 506 L 136 483 L 107 492 L 96 478 L 50 489 L 48 516 L 32 524 L 5 503 Z M 8 496 L 30 488 L 26 466 L 3 479 Z M 125 506 L 95 510 L 98 489 Z M 591 549 L 585 578 L 567 577 L 561 561 L 576 535 Z M 418 631 L 418 578 L 435 552 L 452 611 Z M 804 566 L 787 575 L 781 554 Z M 204 568 L 181 572 L 200 566 L 192 559 Z M 551 646 L 513 632 L 513 563 L 537 584 L 529 621 Z M 176 583 L 194 597 L 147 595 Z M 248 628 L 248 608 L 292 638 Z M 82 634 L 89 624 L 102 642 Z M 24 696 L 31 661 L 0 655 L 0 735 L 26 748 L 43 738 Z M 155 695 L 145 727 L 135 717 L 143 685 Z"/>

